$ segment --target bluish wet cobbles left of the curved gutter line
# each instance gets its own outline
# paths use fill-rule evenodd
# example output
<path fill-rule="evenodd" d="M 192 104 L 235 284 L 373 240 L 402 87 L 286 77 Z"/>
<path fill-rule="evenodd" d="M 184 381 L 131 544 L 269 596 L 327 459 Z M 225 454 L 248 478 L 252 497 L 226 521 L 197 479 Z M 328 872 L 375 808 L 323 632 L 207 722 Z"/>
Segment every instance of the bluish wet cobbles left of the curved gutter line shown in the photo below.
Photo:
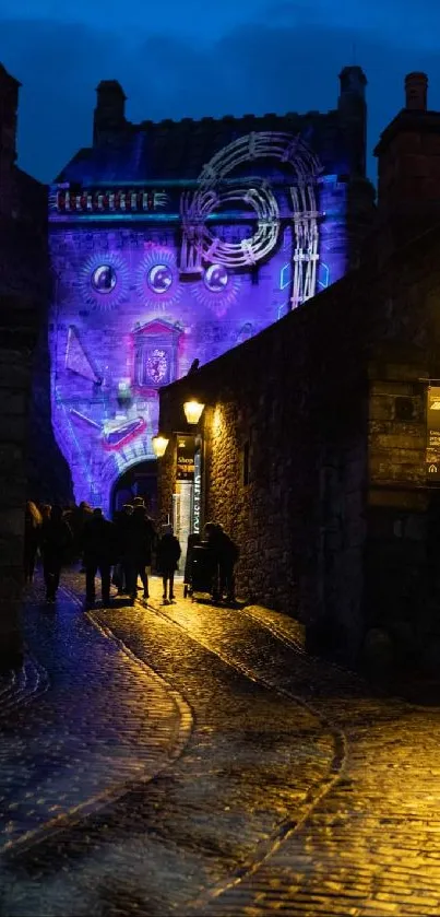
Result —
<path fill-rule="evenodd" d="M 154 775 L 168 762 L 179 721 L 166 686 L 145 677 L 70 601 L 61 598 L 52 611 L 40 592 L 34 597 L 24 616 L 38 663 L 26 660 L 0 708 L 5 849 L 118 795 L 127 781 Z"/>

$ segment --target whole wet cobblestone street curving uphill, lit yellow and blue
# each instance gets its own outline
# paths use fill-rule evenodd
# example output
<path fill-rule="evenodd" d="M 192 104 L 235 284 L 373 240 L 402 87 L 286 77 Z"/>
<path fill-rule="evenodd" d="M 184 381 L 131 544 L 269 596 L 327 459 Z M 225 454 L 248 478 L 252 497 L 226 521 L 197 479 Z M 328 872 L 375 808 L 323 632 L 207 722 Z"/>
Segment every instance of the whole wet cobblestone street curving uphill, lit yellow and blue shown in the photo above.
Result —
<path fill-rule="evenodd" d="M 440 714 L 182 598 L 24 608 L 0 689 L 1 917 L 440 915 Z"/>

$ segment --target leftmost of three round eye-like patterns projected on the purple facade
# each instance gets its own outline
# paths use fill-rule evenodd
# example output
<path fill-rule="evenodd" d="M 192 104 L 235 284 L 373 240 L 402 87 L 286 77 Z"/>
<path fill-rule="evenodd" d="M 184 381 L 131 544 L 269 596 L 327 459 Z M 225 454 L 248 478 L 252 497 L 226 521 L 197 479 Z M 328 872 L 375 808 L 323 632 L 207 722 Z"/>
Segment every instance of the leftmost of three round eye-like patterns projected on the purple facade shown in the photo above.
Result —
<path fill-rule="evenodd" d="M 100 311 L 110 311 L 128 295 L 128 266 L 116 252 L 96 252 L 82 266 L 80 284 L 88 305 Z"/>

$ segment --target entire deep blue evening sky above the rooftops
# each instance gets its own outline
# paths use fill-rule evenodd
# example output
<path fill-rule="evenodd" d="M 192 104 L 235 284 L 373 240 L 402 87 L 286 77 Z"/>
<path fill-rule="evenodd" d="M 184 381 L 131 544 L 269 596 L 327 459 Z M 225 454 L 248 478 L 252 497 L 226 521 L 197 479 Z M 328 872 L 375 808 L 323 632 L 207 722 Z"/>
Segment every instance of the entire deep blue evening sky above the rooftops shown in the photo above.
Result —
<path fill-rule="evenodd" d="M 19 162 L 45 181 L 90 144 L 95 87 L 112 78 L 134 121 L 326 110 L 356 62 L 371 150 L 406 72 L 428 72 L 440 108 L 439 34 L 440 0 L 0 0 L 0 61 L 23 83 Z"/>

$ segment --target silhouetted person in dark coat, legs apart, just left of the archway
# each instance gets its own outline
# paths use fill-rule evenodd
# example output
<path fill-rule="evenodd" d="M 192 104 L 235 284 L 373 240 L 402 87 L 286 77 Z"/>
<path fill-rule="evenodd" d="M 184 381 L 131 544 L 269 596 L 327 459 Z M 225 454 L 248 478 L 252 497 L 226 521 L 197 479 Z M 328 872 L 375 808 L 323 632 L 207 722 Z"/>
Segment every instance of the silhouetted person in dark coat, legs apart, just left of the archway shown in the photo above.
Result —
<path fill-rule="evenodd" d="M 103 604 L 110 601 L 110 571 L 116 554 L 116 529 L 94 509 L 83 529 L 83 559 L 85 566 L 85 596 L 88 604 L 95 601 L 95 576 L 99 571 Z"/>

